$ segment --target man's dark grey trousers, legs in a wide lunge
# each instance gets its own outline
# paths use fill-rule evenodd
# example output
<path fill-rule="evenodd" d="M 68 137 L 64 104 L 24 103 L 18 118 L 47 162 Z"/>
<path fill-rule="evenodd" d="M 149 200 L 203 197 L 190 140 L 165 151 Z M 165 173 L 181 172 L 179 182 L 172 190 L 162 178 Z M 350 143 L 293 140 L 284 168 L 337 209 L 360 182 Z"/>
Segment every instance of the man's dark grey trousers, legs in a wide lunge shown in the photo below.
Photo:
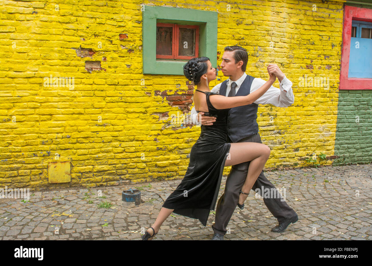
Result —
<path fill-rule="evenodd" d="M 230 139 L 229 142 L 232 143 Z M 259 133 L 241 139 L 238 142 L 262 143 Z M 244 162 L 231 166 L 231 171 L 227 176 L 224 194 L 222 194 L 217 203 L 215 223 L 212 225 L 215 234 L 226 234 L 227 224 L 238 204 L 239 191 L 247 178 L 249 163 L 250 162 Z M 256 188 L 259 188 L 261 196 L 264 198 L 265 191 L 262 191 L 262 186 L 265 190 L 269 189 L 269 191 L 272 191 L 271 189 L 276 189 L 275 186 L 264 176 L 263 171 L 260 173 L 252 189 L 255 190 Z M 296 215 L 296 212 L 288 206 L 281 195 L 280 198 L 264 198 L 263 201 L 269 211 L 278 219 L 279 223 L 283 223 Z"/>

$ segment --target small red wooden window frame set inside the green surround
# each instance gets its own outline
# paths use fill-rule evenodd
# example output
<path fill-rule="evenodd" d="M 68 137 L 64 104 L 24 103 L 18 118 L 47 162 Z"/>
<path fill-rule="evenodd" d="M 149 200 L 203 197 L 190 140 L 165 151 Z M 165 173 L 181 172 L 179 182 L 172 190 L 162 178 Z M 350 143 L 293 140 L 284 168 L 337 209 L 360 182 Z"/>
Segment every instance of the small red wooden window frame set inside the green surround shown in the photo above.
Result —
<path fill-rule="evenodd" d="M 198 25 L 178 25 L 170 23 L 156 23 L 157 27 L 171 27 L 172 28 L 172 53 L 173 55 L 156 55 L 159 59 L 191 59 L 199 57 L 199 26 Z M 178 55 L 179 46 L 179 28 L 195 29 L 195 56 Z"/>

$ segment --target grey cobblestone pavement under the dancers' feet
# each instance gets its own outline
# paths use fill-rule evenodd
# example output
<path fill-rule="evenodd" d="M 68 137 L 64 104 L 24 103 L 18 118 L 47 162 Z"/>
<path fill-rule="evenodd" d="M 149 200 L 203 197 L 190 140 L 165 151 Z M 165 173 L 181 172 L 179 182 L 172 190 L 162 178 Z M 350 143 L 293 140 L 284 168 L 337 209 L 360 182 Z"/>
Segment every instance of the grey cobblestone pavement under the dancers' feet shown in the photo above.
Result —
<path fill-rule="evenodd" d="M 371 240 L 372 165 L 325 166 L 265 172 L 299 220 L 284 233 L 271 230 L 277 220 L 258 195 L 248 197 L 244 210 L 236 208 L 225 240 Z M 23 199 L 0 200 L 2 240 L 140 240 L 141 228 L 150 227 L 161 205 L 181 180 L 133 185 L 30 191 Z M 219 196 L 225 188 L 222 178 Z M 141 189 L 142 203 L 124 203 L 124 189 Z M 99 189 L 102 197 L 99 197 Z M 283 191 L 281 190 L 283 195 Z M 283 195 L 284 196 L 284 195 Z M 98 204 L 110 202 L 112 207 Z M 172 214 L 154 240 L 209 240 L 214 213 L 204 227 L 199 220 Z M 142 229 L 143 230 L 143 229 Z"/>

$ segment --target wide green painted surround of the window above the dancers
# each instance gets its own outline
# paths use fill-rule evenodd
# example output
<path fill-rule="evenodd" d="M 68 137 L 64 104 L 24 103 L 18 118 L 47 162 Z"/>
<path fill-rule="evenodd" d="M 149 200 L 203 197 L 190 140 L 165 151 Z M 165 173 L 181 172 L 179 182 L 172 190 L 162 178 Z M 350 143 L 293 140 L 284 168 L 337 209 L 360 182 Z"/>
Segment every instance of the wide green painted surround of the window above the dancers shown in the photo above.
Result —
<path fill-rule="evenodd" d="M 199 26 L 199 57 L 207 56 L 217 65 L 218 12 L 177 7 L 143 6 L 142 8 L 142 73 L 183 75 L 188 59 L 156 58 L 157 23 Z"/>

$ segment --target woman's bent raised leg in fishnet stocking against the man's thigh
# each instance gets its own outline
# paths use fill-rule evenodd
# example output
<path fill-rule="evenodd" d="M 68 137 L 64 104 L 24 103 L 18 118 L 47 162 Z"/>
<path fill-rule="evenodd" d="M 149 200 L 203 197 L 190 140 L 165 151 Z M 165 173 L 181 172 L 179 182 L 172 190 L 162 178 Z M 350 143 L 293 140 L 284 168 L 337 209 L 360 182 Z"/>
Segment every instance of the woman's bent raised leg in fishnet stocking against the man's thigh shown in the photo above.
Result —
<path fill-rule="evenodd" d="M 270 156 L 270 148 L 267 145 L 256 142 L 231 143 L 230 156 L 227 157 L 225 166 L 237 165 L 238 163 L 249 162 L 246 181 L 241 191 L 249 193 L 260 175 L 267 159 Z M 243 204 L 248 195 L 239 195 L 239 204 Z"/>

